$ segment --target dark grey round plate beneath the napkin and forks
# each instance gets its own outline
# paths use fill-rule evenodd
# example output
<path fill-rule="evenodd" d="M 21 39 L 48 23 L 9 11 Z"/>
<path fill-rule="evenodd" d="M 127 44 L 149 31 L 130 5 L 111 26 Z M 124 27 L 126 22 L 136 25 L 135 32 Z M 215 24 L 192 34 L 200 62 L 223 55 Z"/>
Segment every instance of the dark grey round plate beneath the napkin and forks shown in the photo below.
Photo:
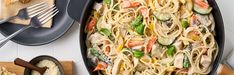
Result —
<path fill-rule="evenodd" d="M 74 20 L 67 14 L 70 0 L 55 0 L 59 13 L 53 18 L 52 28 L 30 28 L 11 40 L 22 45 L 38 46 L 48 44 L 61 37 L 73 24 Z M 22 28 L 22 25 L 4 23 L 0 25 L 0 33 L 8 36 Z"/>

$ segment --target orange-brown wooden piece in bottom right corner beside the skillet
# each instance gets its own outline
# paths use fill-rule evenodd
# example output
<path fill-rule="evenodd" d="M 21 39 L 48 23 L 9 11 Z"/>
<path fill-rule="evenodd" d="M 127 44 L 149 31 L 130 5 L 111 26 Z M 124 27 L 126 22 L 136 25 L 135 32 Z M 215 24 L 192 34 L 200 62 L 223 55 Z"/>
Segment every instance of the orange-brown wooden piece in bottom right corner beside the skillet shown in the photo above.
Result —
<path fill-rule="evenodd" d="M 219 64 L 219 68 L 217 69 L 217 75 L 234 75 L 234 70 L 232 70 L 225 64 Z"/>

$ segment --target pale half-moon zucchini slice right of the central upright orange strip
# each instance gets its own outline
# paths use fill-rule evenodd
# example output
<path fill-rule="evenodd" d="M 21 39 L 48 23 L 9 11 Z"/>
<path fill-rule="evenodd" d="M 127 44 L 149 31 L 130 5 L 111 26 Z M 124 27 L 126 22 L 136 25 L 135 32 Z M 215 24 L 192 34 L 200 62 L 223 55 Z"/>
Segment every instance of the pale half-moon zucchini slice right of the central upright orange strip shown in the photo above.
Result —
<path fill-rule="evenodd" d="M 166 38 L 166 37 L 158 37 L 158 43 L 161 45 L 170 45 L 174 42 L 175 38 Z"/>

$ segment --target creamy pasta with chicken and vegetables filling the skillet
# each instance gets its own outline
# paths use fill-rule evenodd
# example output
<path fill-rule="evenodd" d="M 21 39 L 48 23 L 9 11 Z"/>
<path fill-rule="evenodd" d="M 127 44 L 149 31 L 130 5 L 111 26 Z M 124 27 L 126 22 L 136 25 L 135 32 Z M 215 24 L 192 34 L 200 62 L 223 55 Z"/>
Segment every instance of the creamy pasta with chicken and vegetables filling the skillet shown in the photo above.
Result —
<path fill-rule="evenodd" d="M 88 58 L 104 75 L 208 74 L 218 52 L 206 0 L 104 0 L 87 20 Z"/>

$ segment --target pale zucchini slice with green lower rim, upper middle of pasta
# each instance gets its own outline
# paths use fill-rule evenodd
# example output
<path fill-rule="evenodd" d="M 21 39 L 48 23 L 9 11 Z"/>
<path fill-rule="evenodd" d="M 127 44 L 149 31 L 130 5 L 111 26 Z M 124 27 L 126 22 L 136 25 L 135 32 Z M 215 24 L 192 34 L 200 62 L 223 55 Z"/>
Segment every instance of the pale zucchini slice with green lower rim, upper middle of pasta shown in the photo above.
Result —
<path fill-rule="evenodd" d="M 168 21 L 171 19 L 171 15 L 168 13 L 154 12 L 153 15 L 160 21 Z"/>

